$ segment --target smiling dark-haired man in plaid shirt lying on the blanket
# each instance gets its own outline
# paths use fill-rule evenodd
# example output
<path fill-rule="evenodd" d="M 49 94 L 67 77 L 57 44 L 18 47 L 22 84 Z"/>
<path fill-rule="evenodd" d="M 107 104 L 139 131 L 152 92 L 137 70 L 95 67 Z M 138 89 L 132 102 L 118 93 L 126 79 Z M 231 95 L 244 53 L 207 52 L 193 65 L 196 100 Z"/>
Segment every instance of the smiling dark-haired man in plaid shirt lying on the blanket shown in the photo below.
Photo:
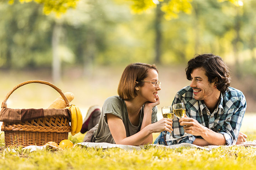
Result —
<path fill-rule="evenodd" d="M 230 85 L 229 68 L 213 54 L 197 55 L 188 61 L 186 76 L 190 86 L 177 92 L 172 104 L 185 103 L 186 117 L 173 119 L 172 136 L 161 132 L 156 144 L 193 143 L 199 146 L 233 145 L 246 141 L 239 133 L 246 110 L 245 96 Z M 183 128 L 184 127 L 184 128 Z M 184 129 L 187 136 L 183 137 Z"/>

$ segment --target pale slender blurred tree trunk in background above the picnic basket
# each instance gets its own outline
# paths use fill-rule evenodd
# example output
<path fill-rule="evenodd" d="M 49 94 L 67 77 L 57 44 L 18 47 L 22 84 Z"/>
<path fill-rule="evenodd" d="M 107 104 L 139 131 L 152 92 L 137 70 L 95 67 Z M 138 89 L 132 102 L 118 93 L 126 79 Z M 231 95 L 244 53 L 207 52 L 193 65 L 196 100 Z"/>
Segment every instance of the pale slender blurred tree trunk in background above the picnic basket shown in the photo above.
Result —
<path fill-rule="evenodd" d="M 60 77 L 60 58 L 59 58 L 59 41 L 61 36 L 62 26 L 59 23 L 55 23 L 53 27 L 52 34 L 52 51 L 53 51 L 53 60 L 52 60 L 52 79 L 54 83 L 57 83 L 61 80 Z"/>

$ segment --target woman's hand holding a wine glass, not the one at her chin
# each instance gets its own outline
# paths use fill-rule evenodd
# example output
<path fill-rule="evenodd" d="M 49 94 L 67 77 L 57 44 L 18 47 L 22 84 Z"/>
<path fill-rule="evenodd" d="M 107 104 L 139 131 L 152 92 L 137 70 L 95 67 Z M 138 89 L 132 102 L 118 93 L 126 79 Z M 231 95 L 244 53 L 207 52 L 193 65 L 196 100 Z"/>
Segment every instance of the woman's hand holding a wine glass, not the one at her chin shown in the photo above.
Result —
<path fill-rule="evenodd" d="M 172 129 L 172 119 L 163 118 L 156 123 L 150 124 L 148 126 L 151 126 L 153 129 L 153 133 L 158 133 L 167 130 L 171 133 Z"/>

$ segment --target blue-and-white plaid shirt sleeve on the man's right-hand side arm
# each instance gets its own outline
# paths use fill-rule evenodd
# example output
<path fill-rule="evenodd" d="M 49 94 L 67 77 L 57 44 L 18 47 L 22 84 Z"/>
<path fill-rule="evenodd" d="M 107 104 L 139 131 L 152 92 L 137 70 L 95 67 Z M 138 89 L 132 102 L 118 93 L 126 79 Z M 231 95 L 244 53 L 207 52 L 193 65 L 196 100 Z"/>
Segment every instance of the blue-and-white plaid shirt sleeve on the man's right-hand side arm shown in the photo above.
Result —
<path fill-rule="evenodd" d="M 235 100 L 229 107 L 230 109 L 226 114 L 230 114 L 231 116 L 225 121 L 223 130 L 219 131 L 219 133 L 224 135 L 226 145 L 234 145 L 237 141 L 242 119 L 246 110 L 245 96 L 242 94 L 241 97 L 238 98 L 238 100 Z"/>

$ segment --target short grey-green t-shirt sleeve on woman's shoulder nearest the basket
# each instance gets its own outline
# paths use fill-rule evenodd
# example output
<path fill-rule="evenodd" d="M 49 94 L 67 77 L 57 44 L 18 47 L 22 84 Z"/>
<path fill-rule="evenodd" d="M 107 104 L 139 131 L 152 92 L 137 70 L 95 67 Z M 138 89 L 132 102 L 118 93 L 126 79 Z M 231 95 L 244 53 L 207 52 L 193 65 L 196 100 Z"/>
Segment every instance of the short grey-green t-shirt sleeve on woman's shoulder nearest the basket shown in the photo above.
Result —
<path fill-rule="evenodd" d="M 108 97 L 103 104 L 102 113 L 106 123 L 106 114 L 113 114 L 123 120 L 122 101 L 117 96 Z"/>

